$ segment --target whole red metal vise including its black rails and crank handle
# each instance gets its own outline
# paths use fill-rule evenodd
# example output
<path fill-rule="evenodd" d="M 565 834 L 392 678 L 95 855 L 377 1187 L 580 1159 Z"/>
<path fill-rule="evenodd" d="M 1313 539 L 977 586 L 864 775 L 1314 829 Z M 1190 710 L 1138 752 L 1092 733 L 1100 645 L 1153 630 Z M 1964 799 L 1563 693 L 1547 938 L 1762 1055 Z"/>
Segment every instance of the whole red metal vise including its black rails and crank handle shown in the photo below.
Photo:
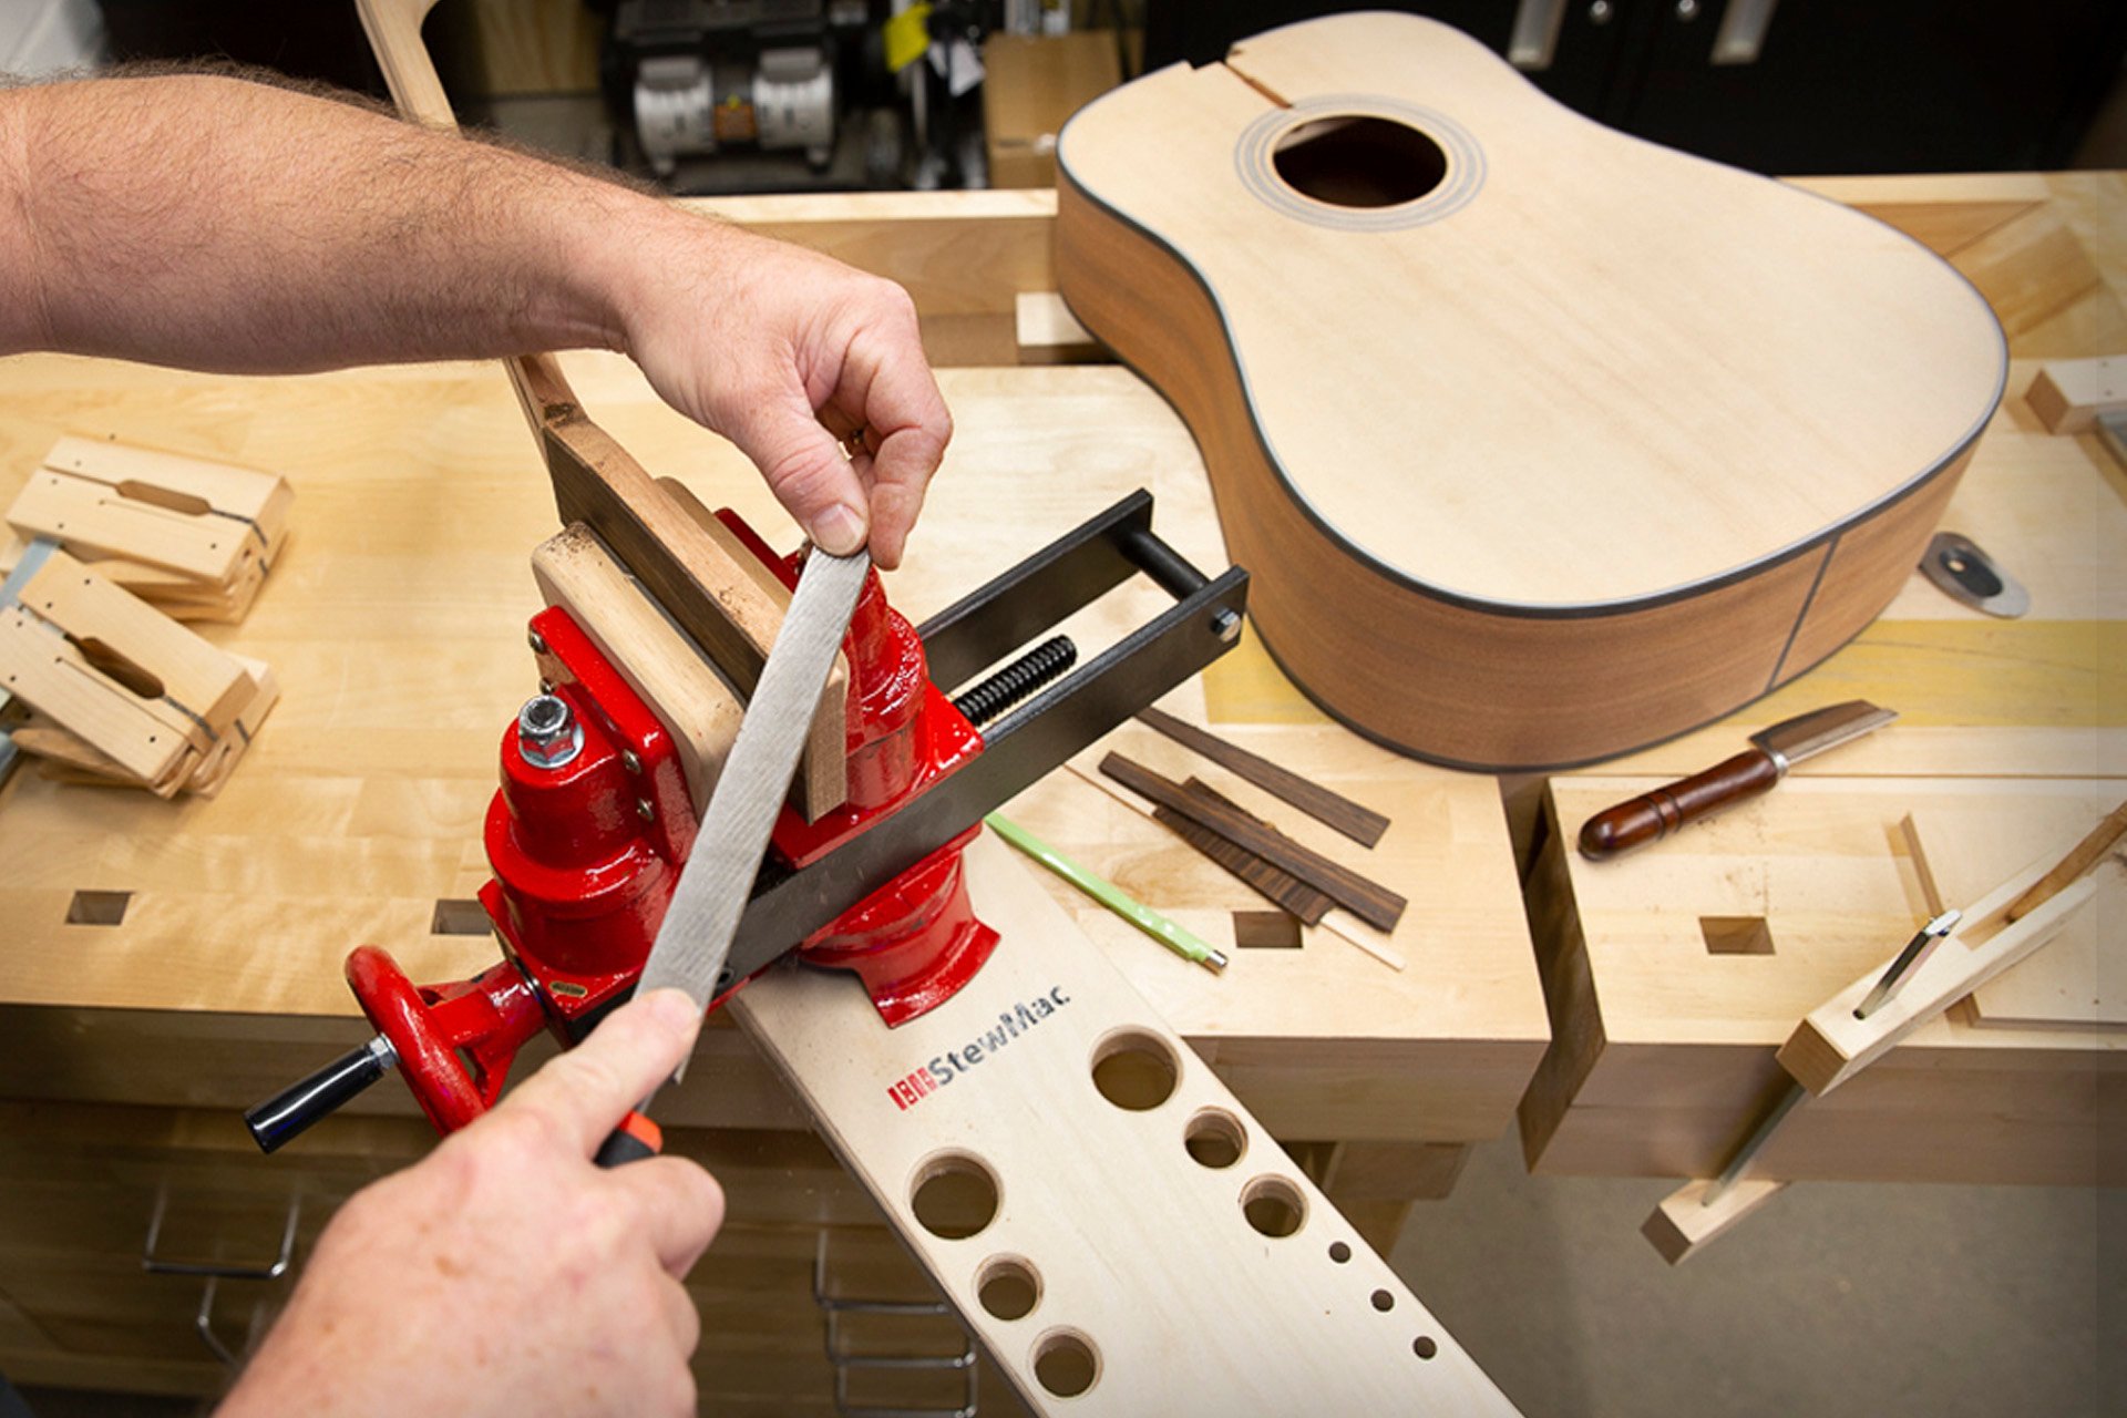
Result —
<path fill-rule="evenodd" d="M 776 557 L 742 521 L 719 517 L 795 583 L 798 557 Z M 921 631 L 887 606 L 876 576 L 866 583 L 842 642 L 849 797 L 810 823 L 785 808 L 719 999 L 793 944 L 808 963 L 855 972 L 887 1025 L 951 999 L 981 969 L 998 935 L 970 910 L 959 857 L 983 814 L 1240 636 L 1249 574 L 1206 578 L 1153 534 L 1151 517 L 1153 500 L 1132 493 Z M 1076 653 L 1057 636 L 959 699 L 932 682 L 972 680 L 1136 574 L 1174 604 L 1066 680 L 1051 685 Z M 685 763 L 568 612 L 532 619 L 532 651 L 540 693 L 502 736 L 502 789 L 485 825 L 493 880 L 481 904 L 504 959 L 470 980 L 417 986 L 374 946 L 349 955 L 347 980 L 379 1033 L 245 1114 L 264 1150 L 393 1063 L 438 1129 L 464 1127 L 493 1105 L 542 1027 L 574 1044 L 634 989 L 700 829 Z"/>

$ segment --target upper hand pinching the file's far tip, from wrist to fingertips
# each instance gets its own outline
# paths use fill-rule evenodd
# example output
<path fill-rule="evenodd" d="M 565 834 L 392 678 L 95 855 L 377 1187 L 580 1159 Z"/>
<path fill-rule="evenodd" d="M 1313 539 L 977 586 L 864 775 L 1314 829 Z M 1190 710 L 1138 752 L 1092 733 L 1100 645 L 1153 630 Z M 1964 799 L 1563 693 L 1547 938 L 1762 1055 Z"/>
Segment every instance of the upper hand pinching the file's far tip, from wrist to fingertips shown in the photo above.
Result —
<path fill-rule="evenodd" d="M 674 213 L 655 287 L 623 304 L 659 395 L 751 457 L 825 551 L 870 538 L 893 570 L 953 436 L 908 291 L 840 261 Z"/>

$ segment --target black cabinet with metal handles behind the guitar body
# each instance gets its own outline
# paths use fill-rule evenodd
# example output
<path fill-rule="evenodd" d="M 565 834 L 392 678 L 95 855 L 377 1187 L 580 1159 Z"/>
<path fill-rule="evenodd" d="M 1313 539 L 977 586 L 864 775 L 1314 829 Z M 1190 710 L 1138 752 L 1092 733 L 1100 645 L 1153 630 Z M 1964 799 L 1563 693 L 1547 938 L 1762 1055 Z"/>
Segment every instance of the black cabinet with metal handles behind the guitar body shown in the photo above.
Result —
<path fill-rule="evenodd" d="M 1353 4 L 1149 0 L 1146 66 Z M 1759 172 L 2061 168 L 2121 77 L 2121 0 L 1423 0 L 1546 94 Z"/>

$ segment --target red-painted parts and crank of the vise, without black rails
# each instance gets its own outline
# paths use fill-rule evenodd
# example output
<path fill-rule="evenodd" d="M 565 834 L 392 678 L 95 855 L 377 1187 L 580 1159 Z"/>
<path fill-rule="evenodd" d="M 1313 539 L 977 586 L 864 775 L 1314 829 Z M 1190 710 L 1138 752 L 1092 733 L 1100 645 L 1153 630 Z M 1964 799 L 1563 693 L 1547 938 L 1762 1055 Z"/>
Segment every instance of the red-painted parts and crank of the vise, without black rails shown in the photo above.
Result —
<path fill-rule="evenodd" d="M 795 587 L 802 553 L 778 557 L 734 512 L 717 517 Z M 493 878 L 481 906 L 504 959 L 470 980 L 413 984 L 389 952 L 353 950 L 347 982 L 381 1044 L 251 1110 L 266 1150 L 300 1131 L 287 1122 L 330 1112 L 393 1061 L 436 1129 L 459 1129 L 496 1103 L 517 1050 L 542 1027 L 576 1042 L 642 974 L 700 821 L 679 746 L 566 610 L 532 617 L 530 642 L 540 695 L 502 736 L 502 787 L 485 823 Z M 932 685 L 923 642 L 887 604 L 876 572 L 842 651 L 849 797 L 813 823 L 783 808 L 770 850 L 791 870 L 983 750 L 974 725 Z M 806 938 L 800 959 L 855 972 L 889 1027 L 951 999 L 998 944 L 976 921 L 961 876 L 961 848 L 976 831 L 968 827 Z M 330 1099 L 317 1097 L 319 1082 Z M 291 1099 L 298 1091 L 304 1097 Z"/>

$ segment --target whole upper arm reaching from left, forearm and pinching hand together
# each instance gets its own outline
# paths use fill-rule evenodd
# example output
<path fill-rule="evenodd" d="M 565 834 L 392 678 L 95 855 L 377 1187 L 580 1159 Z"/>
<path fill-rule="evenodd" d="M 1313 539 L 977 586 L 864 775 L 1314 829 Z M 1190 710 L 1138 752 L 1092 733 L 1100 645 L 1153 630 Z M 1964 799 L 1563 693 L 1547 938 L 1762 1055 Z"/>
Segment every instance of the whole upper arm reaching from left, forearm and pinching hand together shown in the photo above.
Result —
<path fill-rule="evenodd" d="M 623 349 L 815 542 L 868 538 L 887 570 L 953 434 L 891 281 L 257 83 L 0 89 L 0 355 L 291 374 Z"/>

